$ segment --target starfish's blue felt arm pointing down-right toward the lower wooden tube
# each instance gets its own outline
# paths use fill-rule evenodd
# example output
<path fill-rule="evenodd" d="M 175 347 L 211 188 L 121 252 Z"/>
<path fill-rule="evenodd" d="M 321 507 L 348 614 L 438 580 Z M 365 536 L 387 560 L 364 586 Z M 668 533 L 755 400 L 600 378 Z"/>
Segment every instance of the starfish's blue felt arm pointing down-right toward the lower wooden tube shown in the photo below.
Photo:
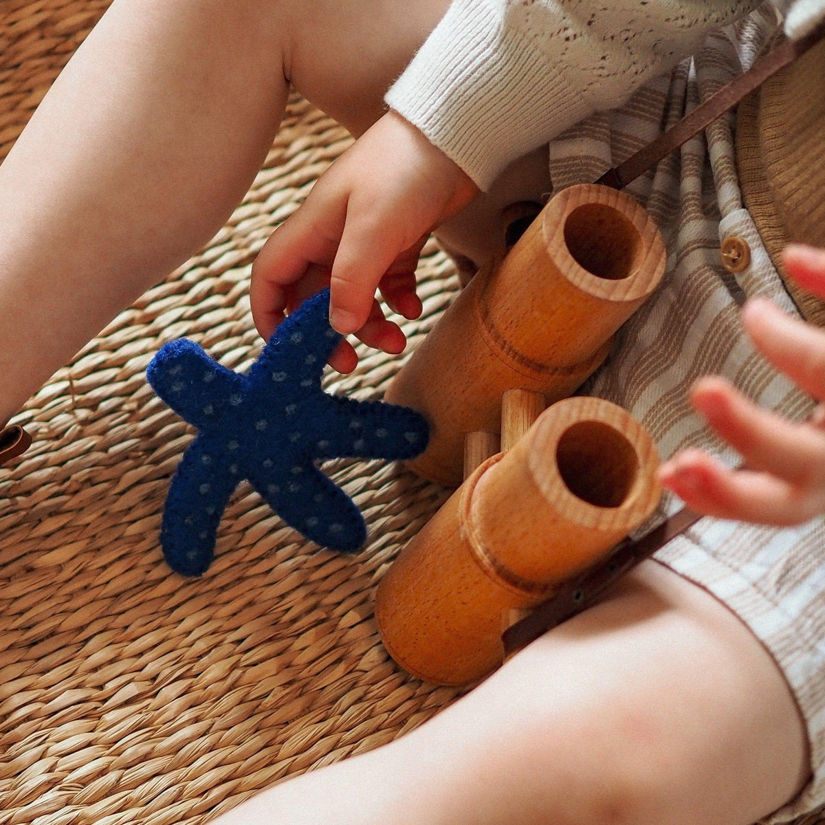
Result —
<path fill-rule="evenodd" d="M 366 540 L 361 512 L 347 493 L 314 464 L 250 478 L 267 504 L 290 526 L 322 547 L 354 553 Z"/>

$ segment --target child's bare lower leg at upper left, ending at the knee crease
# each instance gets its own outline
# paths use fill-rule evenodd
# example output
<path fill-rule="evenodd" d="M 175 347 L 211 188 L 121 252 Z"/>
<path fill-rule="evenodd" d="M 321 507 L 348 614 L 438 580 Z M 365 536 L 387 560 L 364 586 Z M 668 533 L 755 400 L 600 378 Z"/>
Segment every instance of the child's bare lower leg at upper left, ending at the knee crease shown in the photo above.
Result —
<path fill-rule="evenodd" d="M 115 0 L 0 167 L 0 423 L 205 243 L 288 92 L 271 0 Z"/>

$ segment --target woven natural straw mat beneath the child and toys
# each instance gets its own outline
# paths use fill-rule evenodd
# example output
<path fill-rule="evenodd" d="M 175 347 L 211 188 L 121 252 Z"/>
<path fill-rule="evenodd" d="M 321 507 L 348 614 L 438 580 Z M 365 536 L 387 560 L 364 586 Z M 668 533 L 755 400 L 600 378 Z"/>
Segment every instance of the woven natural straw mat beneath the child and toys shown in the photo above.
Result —
<path fill-rule="evenodd" d="M 0 0 L 0 158 L 107 5 Z M 293 98 L 229 224 L 16 419 L 35 443 L 0 471 L 0 825 L 201 823 L 455 698 L 399 672 L 376 634 L 376 582 L 445 497 L 398 466 L 329 467 L 370 526 L 355 558 L 309 548 L 248 487 L 202 580 L 173 575 L 158 547 L 193 431 L 153 397 L 145 367 L 181 336 L 230 368 L 251 364 L 252 259 L 347 144 Z M 419 276 L 413 345 L 455 290 L 434 245 Z M 398 360 L 361 356 L 327 389 L 379 394 Z"/>

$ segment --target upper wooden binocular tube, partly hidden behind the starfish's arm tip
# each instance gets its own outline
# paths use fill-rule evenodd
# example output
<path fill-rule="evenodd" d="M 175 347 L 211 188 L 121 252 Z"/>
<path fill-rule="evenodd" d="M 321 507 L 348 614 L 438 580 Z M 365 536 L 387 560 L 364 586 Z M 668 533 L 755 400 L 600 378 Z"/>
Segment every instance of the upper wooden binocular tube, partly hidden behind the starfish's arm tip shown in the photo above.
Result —
<path fill-rule="evenodd" d="M 390 385 L 386 399 L 423 413 L 427 450 L 409 466 L 461 483 L 464 433 L 498 432 L 502 394 L 565 398 L 610 350 L 610 337 L 656 289 L 665 247 L 624 192 L 565 189 L 503 260 L 479 271 Z"/>

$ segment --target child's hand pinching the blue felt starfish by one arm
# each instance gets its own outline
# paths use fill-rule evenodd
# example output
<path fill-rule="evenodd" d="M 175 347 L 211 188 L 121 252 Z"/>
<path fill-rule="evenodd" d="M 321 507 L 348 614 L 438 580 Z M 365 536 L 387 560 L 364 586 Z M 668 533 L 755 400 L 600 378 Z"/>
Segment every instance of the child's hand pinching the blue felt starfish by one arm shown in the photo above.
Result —
<path fill-rule="evenodd" d="M 478 194 L 473 181 L 390 111 L 330 167 L 252 266 L 252 318 L 264 338 L 302 300 L 331 285 L 330 322 L 370 347 L 397 353 L 404 337 L 384 318 L 375 289 L 404 318 L 421 314 L 418 255 L 428 234 Z M 330 359 L 357 363 L 343 342 Z"/>

